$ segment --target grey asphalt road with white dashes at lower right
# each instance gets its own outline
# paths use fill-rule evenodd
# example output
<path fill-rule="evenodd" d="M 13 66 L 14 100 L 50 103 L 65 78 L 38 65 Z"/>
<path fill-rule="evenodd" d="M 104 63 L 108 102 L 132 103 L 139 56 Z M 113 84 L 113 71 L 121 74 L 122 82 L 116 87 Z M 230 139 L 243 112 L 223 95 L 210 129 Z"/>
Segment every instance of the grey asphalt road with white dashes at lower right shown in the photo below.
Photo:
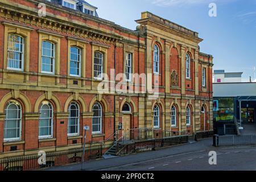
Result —
<path fill-rule="evenodd" d="M 223 148 L 217 152 L 217 165 L 209 164 L 209 152 L 192 152 L 147 160 L 103 171 L 256 171 L 256 148 Z"/>

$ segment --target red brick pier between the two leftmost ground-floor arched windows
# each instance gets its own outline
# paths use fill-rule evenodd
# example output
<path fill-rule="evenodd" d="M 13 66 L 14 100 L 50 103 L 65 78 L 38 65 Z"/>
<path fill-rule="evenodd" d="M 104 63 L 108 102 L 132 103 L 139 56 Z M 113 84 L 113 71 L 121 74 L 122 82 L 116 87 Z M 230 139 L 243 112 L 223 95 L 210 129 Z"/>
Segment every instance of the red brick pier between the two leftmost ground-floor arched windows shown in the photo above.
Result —
<path fill-rule="evenodd" d="M 39 117 L 40 114 L 26 113 L 25 118 L 25 150 L 38 148 L 38 135 L 39 135 Z"/>

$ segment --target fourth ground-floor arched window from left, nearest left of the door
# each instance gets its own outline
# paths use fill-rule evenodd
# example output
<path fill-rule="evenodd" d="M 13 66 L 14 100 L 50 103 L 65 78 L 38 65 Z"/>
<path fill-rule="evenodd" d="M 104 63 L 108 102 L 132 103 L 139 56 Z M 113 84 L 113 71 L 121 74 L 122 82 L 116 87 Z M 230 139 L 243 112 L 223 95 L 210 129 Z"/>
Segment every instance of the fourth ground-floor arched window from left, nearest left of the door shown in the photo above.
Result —
<path fill-rule="evenodd" d="M 93 105 L 92 133 L 102 133 L 102 107 L 96 102 Z"/>

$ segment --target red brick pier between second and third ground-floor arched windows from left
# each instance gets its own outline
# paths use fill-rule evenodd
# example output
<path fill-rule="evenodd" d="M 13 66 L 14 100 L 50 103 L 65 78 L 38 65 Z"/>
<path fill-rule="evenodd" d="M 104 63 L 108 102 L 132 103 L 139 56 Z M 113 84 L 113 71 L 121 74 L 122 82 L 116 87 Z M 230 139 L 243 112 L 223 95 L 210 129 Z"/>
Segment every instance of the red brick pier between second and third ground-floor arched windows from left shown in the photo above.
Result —
<path fill-rule="evenodd" d="M 56 113 L 56 146 L 68 144 L 68 115 L 69 113 Z"/>

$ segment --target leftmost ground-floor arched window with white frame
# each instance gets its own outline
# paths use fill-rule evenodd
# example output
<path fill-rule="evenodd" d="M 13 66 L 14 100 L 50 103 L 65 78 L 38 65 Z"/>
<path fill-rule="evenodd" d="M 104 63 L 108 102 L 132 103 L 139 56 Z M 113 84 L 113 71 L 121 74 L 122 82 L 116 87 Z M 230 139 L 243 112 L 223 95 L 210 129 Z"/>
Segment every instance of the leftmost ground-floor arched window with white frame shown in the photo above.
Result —
<path fill-rule="evenodd" d="M 16 101 L 10 101 L 6 105 L 5 114 L 4 140 L 20 140 L 22 126 L 22 109 L 20 104 Z"/>

